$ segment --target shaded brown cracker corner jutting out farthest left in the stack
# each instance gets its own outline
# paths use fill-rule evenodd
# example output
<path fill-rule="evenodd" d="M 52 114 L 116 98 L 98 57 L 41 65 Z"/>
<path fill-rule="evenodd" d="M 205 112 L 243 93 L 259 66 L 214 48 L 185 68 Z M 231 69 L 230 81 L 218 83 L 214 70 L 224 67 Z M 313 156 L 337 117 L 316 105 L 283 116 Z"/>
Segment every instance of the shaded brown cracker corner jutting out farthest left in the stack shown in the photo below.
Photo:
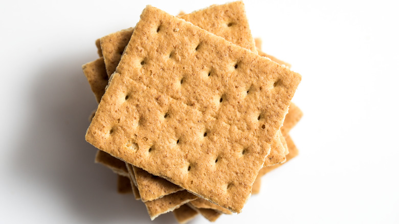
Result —
<path fill-rule="evenodd" d="M 90 87 L 96 97 L 97 102 L 105 93 L 105 86 L 108 84 L 108 77 L 105 72 L 104 58 L 88 62 L 82 65 L 83 73 L 87 78 Z"/>

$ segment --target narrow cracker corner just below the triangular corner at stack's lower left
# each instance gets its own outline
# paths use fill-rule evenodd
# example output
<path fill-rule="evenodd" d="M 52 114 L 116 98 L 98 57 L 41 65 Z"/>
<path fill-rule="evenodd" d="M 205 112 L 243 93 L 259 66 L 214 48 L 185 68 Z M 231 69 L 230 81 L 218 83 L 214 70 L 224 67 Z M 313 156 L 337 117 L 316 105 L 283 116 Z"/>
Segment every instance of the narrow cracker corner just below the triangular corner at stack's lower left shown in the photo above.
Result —
<path fill-rule="evenodd" d="M 173 211 L 196 198 L 198 197 L 188 191 L 178 191 L 156 200 L 145 201 L 144 204 L 151 220 L 154 220 L 158 216 Z"/>

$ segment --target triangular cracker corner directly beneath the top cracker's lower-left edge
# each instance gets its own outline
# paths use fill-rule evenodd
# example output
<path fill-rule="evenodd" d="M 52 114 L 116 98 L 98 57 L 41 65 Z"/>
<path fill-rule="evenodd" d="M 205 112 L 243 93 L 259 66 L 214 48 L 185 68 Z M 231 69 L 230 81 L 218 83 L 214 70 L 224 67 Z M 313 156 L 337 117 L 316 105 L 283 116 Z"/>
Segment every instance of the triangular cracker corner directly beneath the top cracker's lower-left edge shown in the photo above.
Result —
<path fill-rule="evenodd" d="M 154 176 L 138 167 L 132 167 L 135 173 L 137 188 L 140 191 L 141 200 L 154 200 L 165 195 L 181 191 L 183 188 L 170 183 L 159 176 Z"/>

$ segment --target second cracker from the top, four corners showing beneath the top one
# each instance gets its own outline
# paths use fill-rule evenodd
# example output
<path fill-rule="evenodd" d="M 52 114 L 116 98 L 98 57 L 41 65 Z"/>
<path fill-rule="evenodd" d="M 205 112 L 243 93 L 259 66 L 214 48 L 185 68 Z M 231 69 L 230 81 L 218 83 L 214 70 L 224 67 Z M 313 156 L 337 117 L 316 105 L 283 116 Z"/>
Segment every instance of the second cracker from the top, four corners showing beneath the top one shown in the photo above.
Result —
<path fill-rule="evenodd" d="M 184 15 L 184 13 L 179 14 Z M 178 16 L 179 17 L 179 16 Z M 213 5 L 206 9 L 198 10 L 189 15 L 184 15 L 186 21 L 189 21 L 195 26 L 198 26 L 204 30 L 210 31 L 213 34 L 224 37 L 226 40 L 237 44 L 240 47 L 247 48 L 254 51 L 254 42 L 249 29 L 248 20 L 245 13 L 244 5 L 241 1 L 228 3 L 224 5 Z M 234 26 L 232 26 L 234 24 Z M 105 61 L 109 69 L 108 73 L 111 75 L 115 72 L 116 67 L 120 61 L 122 53 L 130 40 L 133 28 L 125 29 L 116 33 L 109 34 L 101 38 L 101 46 L 105 52 Z M 96 41 L 96 45 L 99 48 L 100 39 Z M 256 39 L 255 39 L 256 42 Z M 101 47 L 99 48 L 101 52 Z M 102 54 L 101 54 L 102 55 Z M 104 61 L 103 61 L 104 62 Z M 105 71 L 105 68 L 104 68 Z M 105 85 L 104 85 L 105 86 Z M 103 87 L 104 92 L 105 87 Z M 101 94 L 102 96 L 103 94 Z M 288 115 L 287 115 L 288 116 Z M 280 131 L 279 131 L 280 132 Z M 271 166 L 277 163 L 285 161 L 285 155 L 282 151 L 283 145 L 279 138 L 275 138 L 272 142 L 272 148 L 268 158 L 266 159 L 264 166 Z M 146 179 L 140 179 L 139 177 L 149 177 L 148 181 L 145 182 L 147 186 L 145 189 L 141 189 L 141 193 L 150 193 L 150 198 L 146 195 L 141 194 L 143 200 L 151 200 L 154 198 L 162 197 L 165 195 L 165 189 L 168 186 L 173 186 L 169 190 L 171 192 L 176 191 L 175 185 L 160 184 L 156 180 L 165 180 L 160 177 L 154 177 L 152 174 L 142 170 L 140 174 L 136 175 L 137 183 L 142 184 L 141 181 Z M 152 179 L 155 178 L 155 179 Z M 180 187 L 179 187 L 180 188 Z M 180 188 L 181 189 L 181 188 Z M 158 193 L 157 193 L 158 192 Z"/>

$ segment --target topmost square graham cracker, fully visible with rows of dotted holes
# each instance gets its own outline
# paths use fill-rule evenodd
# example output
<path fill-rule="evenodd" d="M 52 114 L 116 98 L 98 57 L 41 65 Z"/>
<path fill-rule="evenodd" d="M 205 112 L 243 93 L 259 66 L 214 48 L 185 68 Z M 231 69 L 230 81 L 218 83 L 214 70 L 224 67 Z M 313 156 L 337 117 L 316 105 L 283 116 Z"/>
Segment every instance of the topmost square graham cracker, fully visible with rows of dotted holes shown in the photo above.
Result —
<path fill-rule="evenodd" d="M 86 140 L 240 212 L 301 76 L 157 8 L 140 18 Z"/>

